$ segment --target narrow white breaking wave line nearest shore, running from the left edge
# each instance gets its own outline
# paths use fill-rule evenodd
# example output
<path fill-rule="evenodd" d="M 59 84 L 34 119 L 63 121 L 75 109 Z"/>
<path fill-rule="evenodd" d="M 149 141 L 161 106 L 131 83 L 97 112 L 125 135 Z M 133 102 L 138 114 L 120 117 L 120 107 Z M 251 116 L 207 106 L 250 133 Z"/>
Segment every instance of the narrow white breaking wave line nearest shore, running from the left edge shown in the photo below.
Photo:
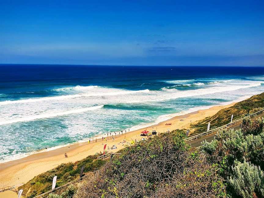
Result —
<path fill-rule="evenodd" d="M 0 125 L 11 124 L 11 123 L 16 123 L 16 122 L 31 121 L 31 120 L 35 120 L 35 119 L 50 118 L 50 117 L 56 117 L 56 116 L 64 116 L 64 115 L 68 115 L 68 114 L 72 114 L 72 113 L 81 113 L 81 112 L 86 112 L 86 111 L 99 109 L 99 108 L 102 108 L 103 106 L 104 105 L 98 105 L 98 106 L 94 106 L 94 107 L 73 109 L 73 110 L 64 111 L 64 112 L 33 115 L 33 116 L 28 116 L 28 117 L 23 117 L 23 118 L 16 118 L 16 119 L 12 119 L 12 120 L 4 120 L 4 121 L 0 121 Z"/>

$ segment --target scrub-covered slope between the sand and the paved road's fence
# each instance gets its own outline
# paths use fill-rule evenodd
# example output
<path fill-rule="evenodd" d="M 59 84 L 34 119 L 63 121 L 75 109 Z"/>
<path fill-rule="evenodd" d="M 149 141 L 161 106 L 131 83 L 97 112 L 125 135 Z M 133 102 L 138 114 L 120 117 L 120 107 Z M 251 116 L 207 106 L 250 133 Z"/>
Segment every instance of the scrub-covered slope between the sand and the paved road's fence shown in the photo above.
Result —
<path fill-rule="evenodd" d="M 249 114 L 255 113 L 263 109 L 264 105 L 264 93 L 258 94 L 248 98 L 247 100 L 237 102 L 235 105 L 224 108 L 217 112 L 214 116 L 207 117 L 191 125 L 194 129 L 191 135 L 199 134 L 205 132 L 207 125 L 210 122 L 211 129 L 223 126 L 230 123 L 231 115 L 233 114 L 233 121 L 247 116 L 248 110 Z"/>

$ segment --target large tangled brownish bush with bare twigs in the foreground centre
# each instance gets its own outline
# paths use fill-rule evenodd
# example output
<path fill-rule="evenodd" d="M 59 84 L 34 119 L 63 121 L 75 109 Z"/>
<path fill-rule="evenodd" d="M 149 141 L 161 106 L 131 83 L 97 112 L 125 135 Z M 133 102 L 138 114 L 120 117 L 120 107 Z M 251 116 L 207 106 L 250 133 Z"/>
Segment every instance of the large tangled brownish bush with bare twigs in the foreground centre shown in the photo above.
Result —
<path fill-rule="evenodd" d="M 174 130 L 127 147 L 80 184 L 74 197 L 225 197 L 219 168 L 184 138 L 184 131 Z"/>

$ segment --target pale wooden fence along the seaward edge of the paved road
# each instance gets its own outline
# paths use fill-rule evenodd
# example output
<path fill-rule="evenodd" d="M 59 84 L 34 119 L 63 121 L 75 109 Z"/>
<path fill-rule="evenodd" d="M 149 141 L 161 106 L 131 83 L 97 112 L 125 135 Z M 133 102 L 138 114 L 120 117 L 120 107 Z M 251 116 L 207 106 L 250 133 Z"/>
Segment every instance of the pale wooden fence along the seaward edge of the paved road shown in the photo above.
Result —
<path fill-rule="evenodd" d="M 262 113 L 264 113 L 264 109 L 262 109 L 262 110 L 260 110 L 260 111 L 258 111 L 258 112 L 255 112 L 255 113 L 250 114 L 249 117 L 254 117 L 254 116 L 257 116 L 257 115 L 262 114 Z M 243 118 L 244 118 L 244 117 L 243 117 Z M 220 129 L 227 129 L 227 128 L 229 128 L 229 127 L 233 127 L 234 125 L 237 125 L 237 124 L 241 123 L 242 120 L 243 120 L 243 118 L 240 118 L 240 119 L 238 119 L 238 120 L 235 120 L 235 121 L 233 121 L 232 123 L 225 124 L 225 125 L 223 125 L 222 127 L 218 127 L 218 128 L 215 128 L 215 129 L 211 129 L 211 130 L 208 130 L 208 131 L 206 131 L 206 132 L 204 132 L 204 133 L 200 133 L 200 134 L 197 134 L 197 135 L 191 136 L 191 137 L 189 137 L 189 138 L 185 138 L 184 141 L 185 141 L 185 142 L 193 141 L 193 140 L 196 140 L 196 139 L 202 138 L 202 137 L 204 137 L 204 136 L 207 136 L 207 135 L 213 134 L 213 133 L 217 132 L 217 131 L 220 130 Z"/>

